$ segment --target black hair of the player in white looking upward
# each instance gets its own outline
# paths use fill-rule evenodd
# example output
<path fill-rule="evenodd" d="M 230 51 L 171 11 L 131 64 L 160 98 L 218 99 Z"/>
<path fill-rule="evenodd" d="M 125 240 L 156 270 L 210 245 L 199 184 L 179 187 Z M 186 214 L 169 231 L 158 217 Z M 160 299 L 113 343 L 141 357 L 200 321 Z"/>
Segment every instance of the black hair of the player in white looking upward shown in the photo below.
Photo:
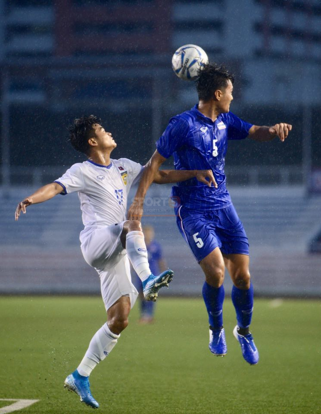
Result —
<path fill-rule="evenodd" d="M 73 124 L 68 127 L 69 141 L 72 147 L 76 151 L 87 155 L 89 151 L 88 140 L 94 135 L 93 127 L 96 124 L 101 125 L 101 123 L 102 120 L 95 115 L 83 115 L 80 118 L 74 119 Z"/>

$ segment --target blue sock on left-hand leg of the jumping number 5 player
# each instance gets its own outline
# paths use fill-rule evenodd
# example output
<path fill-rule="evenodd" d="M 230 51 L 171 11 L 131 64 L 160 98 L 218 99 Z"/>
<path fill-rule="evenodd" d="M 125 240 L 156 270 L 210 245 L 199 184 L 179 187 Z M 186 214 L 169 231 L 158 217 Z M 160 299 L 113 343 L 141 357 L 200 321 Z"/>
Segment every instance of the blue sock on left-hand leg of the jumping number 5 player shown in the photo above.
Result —
<path fill-rule="evenodd" d="M 217 288 L 204 282 L 202 293 L 207 313 L 209 314 L 210 326 L 214 329 L 219 329 L 223 326 L 224 286 Z"/>

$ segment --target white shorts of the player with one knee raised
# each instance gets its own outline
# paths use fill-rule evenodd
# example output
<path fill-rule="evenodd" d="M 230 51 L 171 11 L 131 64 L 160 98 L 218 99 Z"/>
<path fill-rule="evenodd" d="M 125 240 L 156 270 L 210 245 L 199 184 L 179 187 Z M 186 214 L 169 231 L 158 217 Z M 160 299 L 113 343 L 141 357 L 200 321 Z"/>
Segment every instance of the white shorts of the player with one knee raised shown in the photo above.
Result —
<path fill-rule="evenodd" d="M 129 260 L 120 240 L 124 223 L 86 229 L 80 233 L 84 259 L 99 274 L 106 310 L 121 296 L 129 296 L 133 307 L 138 297 L 137 289 L 131 282 Z"/>

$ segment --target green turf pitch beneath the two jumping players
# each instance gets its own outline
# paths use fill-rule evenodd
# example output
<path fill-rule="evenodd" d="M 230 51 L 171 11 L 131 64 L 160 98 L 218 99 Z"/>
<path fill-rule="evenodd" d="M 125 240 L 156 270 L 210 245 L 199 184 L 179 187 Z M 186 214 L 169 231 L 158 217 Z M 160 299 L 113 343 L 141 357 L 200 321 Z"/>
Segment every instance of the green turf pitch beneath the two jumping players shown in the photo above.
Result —
<path fill-rule="evenodd" d="M 39 399 L 21 411 L 26 414 L 91 413 L 63 381 L 104 321 L 99 298 L 1 298 L 0 398 Z M 257 366 L 243 360 L 232 337 L 229 298 L 224 358 L 208 350 L 201 300 L 160 298 L 156 322 L 137 321 L 138 306 L 90 377 L 98 413 L 321 413 L 321 302 L 256 300 Z"/>

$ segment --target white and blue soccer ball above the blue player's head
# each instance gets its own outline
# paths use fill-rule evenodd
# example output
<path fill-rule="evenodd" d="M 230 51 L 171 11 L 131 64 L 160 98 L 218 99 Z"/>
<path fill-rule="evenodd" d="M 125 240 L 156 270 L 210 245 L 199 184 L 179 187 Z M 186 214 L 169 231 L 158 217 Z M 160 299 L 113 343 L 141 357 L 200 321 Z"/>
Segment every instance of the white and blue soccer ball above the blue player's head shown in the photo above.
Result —
<path fill-rule="evenodd" d="M 208 63 L 204 50 L 195 44 L 186 44 L 178 48 L 172 57 L 172 68 L 183 80 L 195 80 L 199 68 Z"/>

